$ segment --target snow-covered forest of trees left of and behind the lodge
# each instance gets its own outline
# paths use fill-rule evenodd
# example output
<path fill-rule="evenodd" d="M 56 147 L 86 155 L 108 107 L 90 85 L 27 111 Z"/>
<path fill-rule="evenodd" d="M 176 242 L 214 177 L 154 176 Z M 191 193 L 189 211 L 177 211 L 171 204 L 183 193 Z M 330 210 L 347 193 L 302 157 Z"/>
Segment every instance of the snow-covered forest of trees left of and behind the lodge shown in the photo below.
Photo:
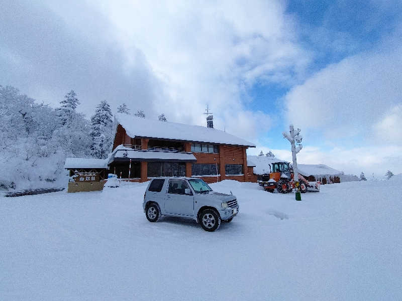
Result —
<path fill-rule="evenodd" d="M 67 157 L 107 158 L 114 138 L 109 103 L 100 101 L 90 120 L 77 112 L 79 105 L 73 90 L 52 108 L 0 85 L 0 190 L 55 186 Z M 118 112 L 131 114 L 124 103 Z M 133 115 L 145 118 L 142 110 Z"/>

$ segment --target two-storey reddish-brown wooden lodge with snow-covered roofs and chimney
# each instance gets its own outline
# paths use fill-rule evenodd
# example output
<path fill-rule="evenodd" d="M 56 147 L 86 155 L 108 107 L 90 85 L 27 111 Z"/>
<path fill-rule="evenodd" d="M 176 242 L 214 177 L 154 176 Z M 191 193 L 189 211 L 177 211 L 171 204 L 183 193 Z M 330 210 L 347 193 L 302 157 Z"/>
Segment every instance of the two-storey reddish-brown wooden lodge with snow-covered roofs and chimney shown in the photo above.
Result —
<path fill-rule="evenodd" d="M 199 177 L 207 183 L 222 180 L 256 182 L 246 150 L 255 144 L 213 128 L 115 115 L 116 134 L 108 158 L 109 173 L 129 181 L 154 177 Z"/>

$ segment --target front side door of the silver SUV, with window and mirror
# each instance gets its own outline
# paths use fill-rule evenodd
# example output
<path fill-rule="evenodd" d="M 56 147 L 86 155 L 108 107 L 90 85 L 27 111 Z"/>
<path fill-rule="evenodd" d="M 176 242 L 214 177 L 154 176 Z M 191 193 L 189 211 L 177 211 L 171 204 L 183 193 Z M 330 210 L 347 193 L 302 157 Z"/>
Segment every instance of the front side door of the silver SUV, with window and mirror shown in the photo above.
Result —
<path fill-rule="evenodd" d="M 185 189 L 189 189 L 183 180 L 169 180 L 165 195 L 165 212 L 168 214 L 194 215 L 194 196 L 186 195 Z"/>

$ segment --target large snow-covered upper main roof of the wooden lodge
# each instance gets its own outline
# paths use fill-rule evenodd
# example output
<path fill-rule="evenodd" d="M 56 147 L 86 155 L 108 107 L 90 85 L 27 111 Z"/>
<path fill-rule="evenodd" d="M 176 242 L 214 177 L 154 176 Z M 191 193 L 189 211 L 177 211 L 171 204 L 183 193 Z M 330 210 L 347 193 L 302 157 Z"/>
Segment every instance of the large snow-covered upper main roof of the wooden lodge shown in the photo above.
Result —
<path fill-rule="evenodd" d="M 148 137 L 196 142 L 210 142 L 255 147 L 255 144 L 225 131 L 199 125 L 140 118 L 125 113 L 115 114 L 130 137 Z"/>

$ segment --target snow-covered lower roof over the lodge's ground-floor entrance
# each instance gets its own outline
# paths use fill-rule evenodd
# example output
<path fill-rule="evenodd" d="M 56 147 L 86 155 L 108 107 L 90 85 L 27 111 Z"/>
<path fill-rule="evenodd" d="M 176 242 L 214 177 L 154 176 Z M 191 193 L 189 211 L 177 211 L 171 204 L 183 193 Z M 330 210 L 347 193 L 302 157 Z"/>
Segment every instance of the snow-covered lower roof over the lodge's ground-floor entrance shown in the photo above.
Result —
<path fill-rule="evenodd" d="M 117 159 L 117 160 L 116 160 Z M 157 150 L 136 150 L 130 147 L 119 145 L 109 157 L 108 163 L 120 160 L 135 161 L 174 161 L 174 162 L 196 162 L 197 159 L 191 153 L 160 152 Z"/>

